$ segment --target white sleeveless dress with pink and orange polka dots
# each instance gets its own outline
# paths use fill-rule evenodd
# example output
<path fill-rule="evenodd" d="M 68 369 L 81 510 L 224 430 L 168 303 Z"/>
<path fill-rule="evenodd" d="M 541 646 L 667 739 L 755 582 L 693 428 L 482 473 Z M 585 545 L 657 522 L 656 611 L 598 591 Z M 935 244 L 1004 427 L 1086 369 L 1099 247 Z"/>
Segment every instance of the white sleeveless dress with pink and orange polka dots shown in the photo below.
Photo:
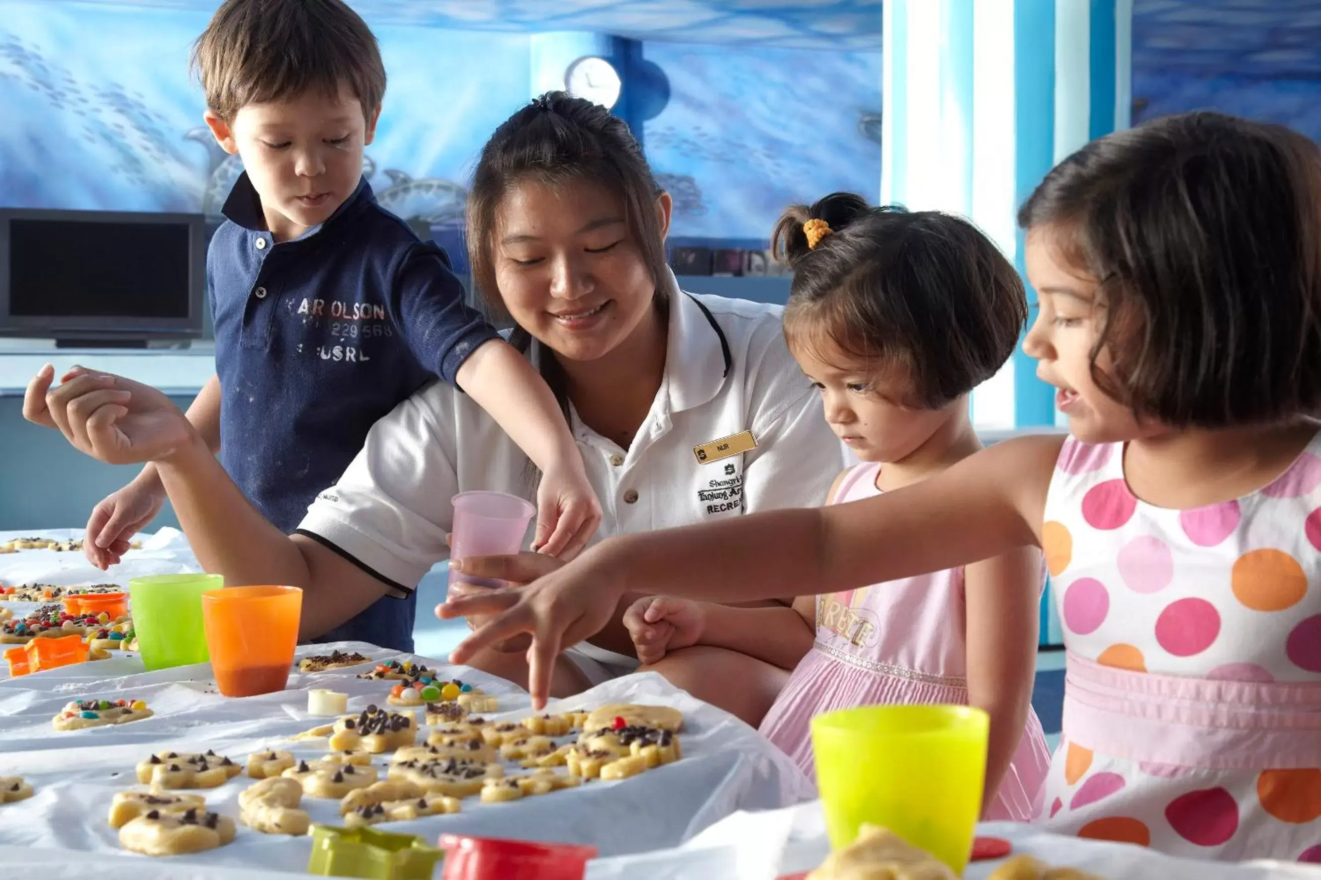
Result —
<path fill-rule="evenodd" d="M 1321 434 L 1193 511 L 1065 442 L 1042 544 L 1069 666 L 1037 821 L 1214 859 L 1321 862 Z"/>

